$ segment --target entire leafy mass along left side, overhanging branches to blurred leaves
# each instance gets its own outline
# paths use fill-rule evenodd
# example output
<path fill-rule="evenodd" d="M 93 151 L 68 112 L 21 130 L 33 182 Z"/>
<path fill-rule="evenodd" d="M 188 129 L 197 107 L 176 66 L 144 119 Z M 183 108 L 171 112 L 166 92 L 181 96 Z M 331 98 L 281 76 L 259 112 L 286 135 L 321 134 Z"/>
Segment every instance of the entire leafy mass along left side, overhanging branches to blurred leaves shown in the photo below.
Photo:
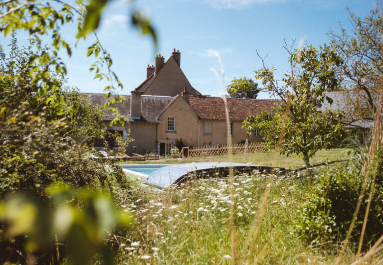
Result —
<path fill-rule="evenodd" d="M 65 88 L 67 69 L 61 59 L 73 45 L 94 35 L 86 54 L 96 80 L 107 80 L 111 124 L 124 125 L 115 104 L 123 88 L 112 71 L 110 54 L 94 30 L 107 0 L 10 0 L 0 3 L 0 33 L 12 35 L 9 54 L 0 46 L 0 200 L 1 263 L 86 264 L 112 262 L 105 231 L 125 219 L 103 192 L 114 199 L 129 188 L 121 167 L 97 159 L 86 144 L 105 136 L 103 112 L 86 95 Z M 131 5 L 133 6 L 133 5 Z M 150 20 L 134 8 L 133 25 L 157 37 Z M 133 15 L 132 15 L 133 16 Z M 66 24 L 77 21 L 76 43 L 61 35 Z M 16 32 L 29 35 L 30 45 L 17 47 Z M 129 139 L 128 139 L 129 140 Z M 125 146 L 121 143 L 120 146 Z M 53 188 L 60 184 L 65 188 Z M 78 189 L 92 187 L 94 191 Z M 124 195 L 122 195 L 124 194 Z M 125 221 L 124 221 L 125 220 Z"/>

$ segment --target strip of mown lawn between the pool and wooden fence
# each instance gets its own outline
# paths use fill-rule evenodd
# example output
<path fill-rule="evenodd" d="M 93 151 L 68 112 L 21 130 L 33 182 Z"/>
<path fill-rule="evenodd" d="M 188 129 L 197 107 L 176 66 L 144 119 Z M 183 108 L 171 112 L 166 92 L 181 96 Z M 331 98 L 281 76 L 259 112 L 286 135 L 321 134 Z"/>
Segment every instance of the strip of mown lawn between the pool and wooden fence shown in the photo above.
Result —
<path fill-rule="evenodd" d="M 330 149 L 318 151 L 311 159 L 313 164 L 348 158 L 347 154 L 349 149 Z M 279 152 L 261 152 L 250 154 L 234 154 L 230 160 L 228 155 L 218 156 L 202 156 L 182 159 L 162 158 L 160 160 L 146 160 L 146 161 L 126 161 L 121 164 L 179 164 L 191 162 L 236 162 L 236 163 L 253 163 L 256 165 L 267 165 L 287 168 L 297 168 L 304 166 L 302 157 L 292 154 L 289 157 L 280 155 Z"/>

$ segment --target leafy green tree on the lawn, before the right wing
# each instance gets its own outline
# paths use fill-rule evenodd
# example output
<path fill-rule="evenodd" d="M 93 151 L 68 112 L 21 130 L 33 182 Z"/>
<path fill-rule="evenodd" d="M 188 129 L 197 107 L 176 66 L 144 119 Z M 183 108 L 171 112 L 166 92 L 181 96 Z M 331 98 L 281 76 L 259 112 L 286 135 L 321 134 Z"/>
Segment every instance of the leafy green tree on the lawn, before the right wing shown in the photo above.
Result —
<path fill-rule="evenodd" d="M 261 90 L 280 98 L 283 104 L 275 107 L 275 113 L 263 111 L 256 117 L 250 116 L 243 127 L 248 133 L 260 129 L 266 145 L 280 148 L 281 154 L 303 155 L 310 168 L 310 158 L 318 150 L 333 146 L 344 132 L 341 114 L 317 109 L 325 100 L 332 103 L 323 92 L 339 86 L 335 71 L 342 59 L 329 46 L 319 51 L 307 45 L 293 50 L 294 42 L 290 48 L 286 42 L 284 45 L 291 72 L 283 75 L 282 86 L 274 77 L 275 69 L 265 66 L 264 58 L 261 58 L 263 68 L 254 71 L 255 78 L 262 80 Z"/>

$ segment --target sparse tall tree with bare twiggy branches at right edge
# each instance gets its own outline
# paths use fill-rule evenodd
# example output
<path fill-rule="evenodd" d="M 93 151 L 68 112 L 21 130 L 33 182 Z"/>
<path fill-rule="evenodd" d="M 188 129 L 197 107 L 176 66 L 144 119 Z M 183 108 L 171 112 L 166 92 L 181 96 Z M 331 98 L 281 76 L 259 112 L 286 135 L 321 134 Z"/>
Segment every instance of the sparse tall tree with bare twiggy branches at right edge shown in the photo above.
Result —
<path fill-rule="evenodd" d="M 376 96 L 383 76 L 382 32 L 383 21 L 379 2 L 370 15 L 361 18 L 349 11 L 352 31 L 340 25 L 340 33 L 328 32 L 330 45 L 344 61 L 336 71 L 341 86 L 357 92 L 358 97 L 349 97 L 348 113 L 352 123 L 358 120 L 373 121 L 376 111 Z M 351 104 L 350 104 L 351 103 Z"/>

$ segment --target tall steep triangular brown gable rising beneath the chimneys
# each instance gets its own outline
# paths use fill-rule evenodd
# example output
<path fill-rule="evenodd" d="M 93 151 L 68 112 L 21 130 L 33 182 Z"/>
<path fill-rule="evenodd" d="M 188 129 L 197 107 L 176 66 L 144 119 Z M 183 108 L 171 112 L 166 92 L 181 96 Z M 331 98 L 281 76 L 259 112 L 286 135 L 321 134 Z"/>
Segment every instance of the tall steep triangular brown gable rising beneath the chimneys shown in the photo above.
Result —
<path fill-rule="evenodd" d="M 161 79 L 161 81 L 160 81 Z M 164 84 L 164 82 L 166 82 Z M 177 90 L 177 93 L 173 93 L 176 96 L 177 94 L 181 94 L 184 91 L 184 86 L 187 87 L 188 92 L 192 96 L 200 96 L 196 89 L 192 87 L 188 78 L 185 76 L 181 67 L 178 65 L 173 56 L 166 61 L 166 63 L 162 66 L 160 71 L 156 74 L 150 75 L 141 85 L 139 85 L 135 91 L 140 91 L 143 95 L 164 95 L 163 90 L 172 89 Z"/>

